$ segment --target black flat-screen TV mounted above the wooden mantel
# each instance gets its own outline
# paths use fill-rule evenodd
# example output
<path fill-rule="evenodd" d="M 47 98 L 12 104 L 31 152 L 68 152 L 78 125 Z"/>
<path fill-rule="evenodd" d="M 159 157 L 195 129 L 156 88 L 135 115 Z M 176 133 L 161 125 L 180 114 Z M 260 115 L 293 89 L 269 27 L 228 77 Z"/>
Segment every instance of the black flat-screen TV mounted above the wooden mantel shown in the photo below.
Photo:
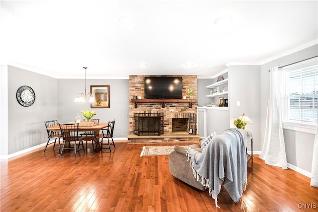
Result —
<path fill-rule="evenodd" d="M 145 76 L 145 99 L 181 98 L 181 76 Z"/>

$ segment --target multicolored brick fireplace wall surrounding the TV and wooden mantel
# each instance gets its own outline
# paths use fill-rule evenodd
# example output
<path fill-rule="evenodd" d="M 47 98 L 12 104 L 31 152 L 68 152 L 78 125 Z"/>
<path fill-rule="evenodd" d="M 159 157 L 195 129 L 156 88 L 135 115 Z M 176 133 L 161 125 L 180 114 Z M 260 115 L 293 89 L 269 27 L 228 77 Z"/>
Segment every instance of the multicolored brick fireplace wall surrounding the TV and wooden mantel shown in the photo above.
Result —
<path fill-rule="evenodd" d="M 196 104 L 189 104 L 187 102 L 166 102 L 163 104 L 151 102 L 151 103 L 138 103 L 138 106 L 132 102 L 134 96 L 141 96 L 144 99 L 144 77 L 149 75 L 130 75 L 129 76 L 129 133 L 130 136 L 134 134 L 134 113 L 163 113 L 163 135 L 169 137 L 173 133 L 189 132 L 189 129 L 185 126 L 188 125 L 186 119 L 188 119 L 189 113 L 197 117 Z M 161 75 L 162 76 L 162 75 Z M 182 76 L 182 96 L 189 98 L 188 89 L 195 90 L 194 99 L 197 98 L 197 76 L 196 75 L 169 75 L 169 76 Z M 191 107 L 190 107 L 191 106 Z M 137 107 L 137 108 L 136 108 Z M 173 122 L 173 124 L 172 124 Z M 172 130 L 172 125 L 174 129 Z M 128 136 L 128 139 L 130 138 Z M 191 135 L 184 135 L 189 138 Z M 144 137 L 144 136 L 140 136 Z M 155 138 L 155 137 L 152 137 Z M 159 139 L 159 138 L 157 138 Z M 145 140 L 145 138 L 143 138 Z M 184 139 L 183 139 L 184 140 Z M 193 141 L 189 139 L 189 141 Z"/>

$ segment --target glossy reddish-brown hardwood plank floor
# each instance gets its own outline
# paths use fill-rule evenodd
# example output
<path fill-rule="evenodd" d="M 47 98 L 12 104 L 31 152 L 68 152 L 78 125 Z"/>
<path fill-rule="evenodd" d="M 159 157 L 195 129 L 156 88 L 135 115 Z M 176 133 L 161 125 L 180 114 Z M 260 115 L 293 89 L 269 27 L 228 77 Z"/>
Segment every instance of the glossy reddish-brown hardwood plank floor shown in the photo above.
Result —
<path fill-rule="evenodd" d="M 148 144 L 172 145 L 173 143 Z M 168 156 L 140 157 L 143 143 L 116 142 L 116 150 L 73 152 L 59 158 L 50 145 L 1 160 L 1 212 L 318 211 L 318 189 L 293 170 L 248 164 L 248 185 L 235 204 L 225 189 L 214 200 L 171 176 Z"/>

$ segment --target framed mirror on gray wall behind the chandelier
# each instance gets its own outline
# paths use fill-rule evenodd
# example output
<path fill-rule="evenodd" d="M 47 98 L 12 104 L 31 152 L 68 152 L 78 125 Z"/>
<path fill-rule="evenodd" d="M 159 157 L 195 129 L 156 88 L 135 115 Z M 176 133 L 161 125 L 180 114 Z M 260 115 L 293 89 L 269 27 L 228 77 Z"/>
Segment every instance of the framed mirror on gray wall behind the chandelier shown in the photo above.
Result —
<path fill-rule="evenodd" d="M 109 85 L 90 85 L 90 93 L 95 98 L 90 108 L 110 108 Z"/>

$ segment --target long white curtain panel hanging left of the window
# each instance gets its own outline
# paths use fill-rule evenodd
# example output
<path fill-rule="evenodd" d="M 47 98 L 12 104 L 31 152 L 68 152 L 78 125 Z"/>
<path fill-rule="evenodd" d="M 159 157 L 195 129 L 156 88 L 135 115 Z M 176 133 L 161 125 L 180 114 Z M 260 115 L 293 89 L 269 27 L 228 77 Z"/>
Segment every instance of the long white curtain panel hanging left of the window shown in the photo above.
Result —
<path fill-rule="evenodd" d="M 285 141 L 281 117 L 282 73 L 277 67 L 270 70 L 270 88 L 267 105 L 266 129 L 262 152 L 259 158 L 266 164 L 287 169 Z"/>

